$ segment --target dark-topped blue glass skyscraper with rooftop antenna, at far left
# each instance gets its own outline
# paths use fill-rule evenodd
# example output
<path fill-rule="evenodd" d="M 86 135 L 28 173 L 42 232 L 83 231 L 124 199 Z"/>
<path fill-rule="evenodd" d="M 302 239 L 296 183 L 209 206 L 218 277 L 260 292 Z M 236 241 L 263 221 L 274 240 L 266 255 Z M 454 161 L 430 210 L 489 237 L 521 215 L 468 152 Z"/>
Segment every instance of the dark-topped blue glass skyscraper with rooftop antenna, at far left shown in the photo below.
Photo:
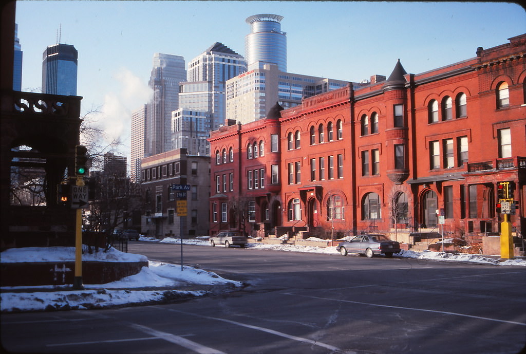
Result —
<path fill-rule="evenodd" d="M 58 43 L 42 55 L 42 93 L 77 95 L 78 52 L 73 45 Z"/>

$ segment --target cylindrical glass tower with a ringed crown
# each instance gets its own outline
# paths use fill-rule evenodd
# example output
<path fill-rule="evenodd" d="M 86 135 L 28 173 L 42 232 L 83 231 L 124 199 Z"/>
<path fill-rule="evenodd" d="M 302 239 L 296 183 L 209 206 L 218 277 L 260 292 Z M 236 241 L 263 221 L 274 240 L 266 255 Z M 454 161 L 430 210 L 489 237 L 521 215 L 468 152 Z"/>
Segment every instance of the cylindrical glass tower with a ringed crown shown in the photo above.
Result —
<path fill-rule="evenodd" d="M 255 62 L 278 65 L 287 72 L 287 33 L 281 32 L 279 23 L 283 16 L 259 14 L 250 16 L 246 22 L 250 33 L 245 37 L 245 60 L 250 66 Z"/>

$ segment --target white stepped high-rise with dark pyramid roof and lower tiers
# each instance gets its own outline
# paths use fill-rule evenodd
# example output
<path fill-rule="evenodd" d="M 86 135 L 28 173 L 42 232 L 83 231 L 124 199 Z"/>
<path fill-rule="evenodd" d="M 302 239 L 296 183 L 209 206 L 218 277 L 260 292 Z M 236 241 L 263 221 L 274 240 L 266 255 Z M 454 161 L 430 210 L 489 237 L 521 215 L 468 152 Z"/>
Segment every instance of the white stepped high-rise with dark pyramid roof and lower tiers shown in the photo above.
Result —
<path fill-rule="evenodd" d="M 179 109 L 172 113 L 173 148 L 209 155 L 210 130 L 225 122 L 226 81 L 246 70 L 245 59 L 218 42 L 188 63 L 187 82 L 180 84 Z"/>

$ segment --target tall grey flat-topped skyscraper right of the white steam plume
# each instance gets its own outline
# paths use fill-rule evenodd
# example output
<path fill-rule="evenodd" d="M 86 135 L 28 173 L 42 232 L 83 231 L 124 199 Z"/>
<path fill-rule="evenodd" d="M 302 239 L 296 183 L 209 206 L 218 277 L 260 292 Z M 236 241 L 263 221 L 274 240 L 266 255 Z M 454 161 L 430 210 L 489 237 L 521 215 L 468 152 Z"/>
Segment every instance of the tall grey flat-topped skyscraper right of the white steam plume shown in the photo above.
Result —
<path fill-rule="evenodd" d="M 153 97 L 148 105 L 145 156 L 172 149 L 171 112 L 179 107 L 179 83 L 186 80 L 185 59 L 179 55 L 155 53 L 149 86 Z"/>

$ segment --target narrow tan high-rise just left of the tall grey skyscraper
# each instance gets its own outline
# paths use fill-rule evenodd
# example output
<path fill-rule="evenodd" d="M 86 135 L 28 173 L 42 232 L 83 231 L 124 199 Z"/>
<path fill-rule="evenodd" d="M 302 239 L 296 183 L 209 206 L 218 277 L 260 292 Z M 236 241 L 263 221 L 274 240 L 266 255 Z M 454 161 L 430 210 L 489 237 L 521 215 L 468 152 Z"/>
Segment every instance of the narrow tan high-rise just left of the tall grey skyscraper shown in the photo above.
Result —
<path fill-rule="evenodd" d="M 140 181 L 140 160 L 145 156 L 145 130 L 148 105 L 142 105 L 131 113 L 130 177 L 134 183 Z"/>

